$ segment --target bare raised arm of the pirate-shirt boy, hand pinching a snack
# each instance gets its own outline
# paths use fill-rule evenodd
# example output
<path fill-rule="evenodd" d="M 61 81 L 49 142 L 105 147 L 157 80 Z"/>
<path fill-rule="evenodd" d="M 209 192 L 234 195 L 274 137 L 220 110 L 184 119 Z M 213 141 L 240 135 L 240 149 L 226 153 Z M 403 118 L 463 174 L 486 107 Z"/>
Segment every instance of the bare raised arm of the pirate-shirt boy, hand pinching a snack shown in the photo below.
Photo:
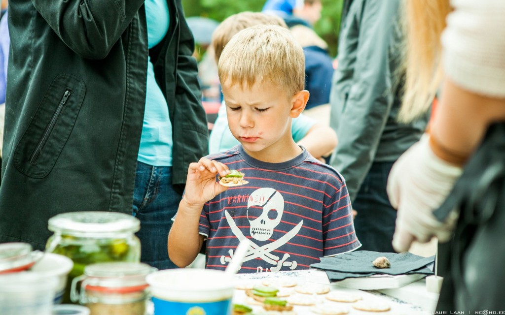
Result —
<path fill-rule="evenodd" d="M 218 173 L 225 176 L 229 169 L 207 158 L 189 164 L 186 190 L 168 235 L 168 255 L 178 267 L 191 264 L 204 241 L 204 236 L 198 233 L 198 224 L 205 203 L 228 188 L 216 181 Z"/>

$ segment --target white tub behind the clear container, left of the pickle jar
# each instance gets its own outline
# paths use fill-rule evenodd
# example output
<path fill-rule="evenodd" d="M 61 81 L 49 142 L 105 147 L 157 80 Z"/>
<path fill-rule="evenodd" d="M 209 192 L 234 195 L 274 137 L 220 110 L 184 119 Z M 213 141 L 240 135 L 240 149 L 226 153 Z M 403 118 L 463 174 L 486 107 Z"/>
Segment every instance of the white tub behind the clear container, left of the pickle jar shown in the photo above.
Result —
<path fill-rule="evenodd" d="M 63 293 L 65 292 L 68 274 L 74 267 L 74 262 L 63 255 L 44 253 L 44 256 L 30 269 L 30 272 L 47 277 L 57 277 L 58 285 L 55 291 L 55 304 L 62 301 Z"/>

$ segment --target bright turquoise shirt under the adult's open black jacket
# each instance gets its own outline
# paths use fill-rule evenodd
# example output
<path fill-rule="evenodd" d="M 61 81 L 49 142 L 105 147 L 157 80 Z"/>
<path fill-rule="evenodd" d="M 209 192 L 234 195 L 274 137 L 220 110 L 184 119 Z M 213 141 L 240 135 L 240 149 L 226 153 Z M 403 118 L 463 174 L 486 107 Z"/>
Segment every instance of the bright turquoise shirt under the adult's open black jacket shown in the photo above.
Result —
<path fill-rule="evenodd" d="M 170 15 L 166 0 L 146 0 L 147 42 L 156 46 L 167 34 Z M 168 105 L 156 83 L 154 67 L 147 62 L 147 92 L 138 161 L 153 166 L 172 166 L 172 123 Z"/>

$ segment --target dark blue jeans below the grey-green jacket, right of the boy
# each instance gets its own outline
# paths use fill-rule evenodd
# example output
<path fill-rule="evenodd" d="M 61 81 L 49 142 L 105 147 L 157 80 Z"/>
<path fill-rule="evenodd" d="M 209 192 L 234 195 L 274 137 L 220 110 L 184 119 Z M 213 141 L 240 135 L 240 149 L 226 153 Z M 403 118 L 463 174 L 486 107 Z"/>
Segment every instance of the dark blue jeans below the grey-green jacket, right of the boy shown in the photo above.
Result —
<path fill-rule="evenodd" d="M 389 203 L 386 192 L 392 166 L 393 162 L 374 162 L 352 203 L 352 208 L 358 211 L 354 220 L 356 235 L 362 243 L 358 250 L 394 253 L 391 241 L 396 210 Z"/>

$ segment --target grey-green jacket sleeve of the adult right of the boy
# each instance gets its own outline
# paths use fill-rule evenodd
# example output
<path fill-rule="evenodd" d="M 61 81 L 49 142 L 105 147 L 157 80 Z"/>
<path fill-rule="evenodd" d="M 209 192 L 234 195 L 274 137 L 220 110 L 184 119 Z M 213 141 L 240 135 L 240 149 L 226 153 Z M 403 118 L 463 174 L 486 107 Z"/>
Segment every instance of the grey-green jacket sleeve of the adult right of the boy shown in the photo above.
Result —
<path fill-rule="evenodd" d="M 330 100 L 330 125 L 338 126 L 339 138 L 331 165 L 345 178 L 351 201 L 372 165 L 394 93 L 388 52 L 398 2 L 367 1 L 363 6 L 356 18 L 360 25 L 356 60 L 350 65 L 353 69 L 343 69 L 346 65 L 341 62 L 332 87 L 332 94 L 338 94 L 348 85 L 348 95 L 335 95 Z M 355 34 L 348 36 L 355 40 Z"/>

